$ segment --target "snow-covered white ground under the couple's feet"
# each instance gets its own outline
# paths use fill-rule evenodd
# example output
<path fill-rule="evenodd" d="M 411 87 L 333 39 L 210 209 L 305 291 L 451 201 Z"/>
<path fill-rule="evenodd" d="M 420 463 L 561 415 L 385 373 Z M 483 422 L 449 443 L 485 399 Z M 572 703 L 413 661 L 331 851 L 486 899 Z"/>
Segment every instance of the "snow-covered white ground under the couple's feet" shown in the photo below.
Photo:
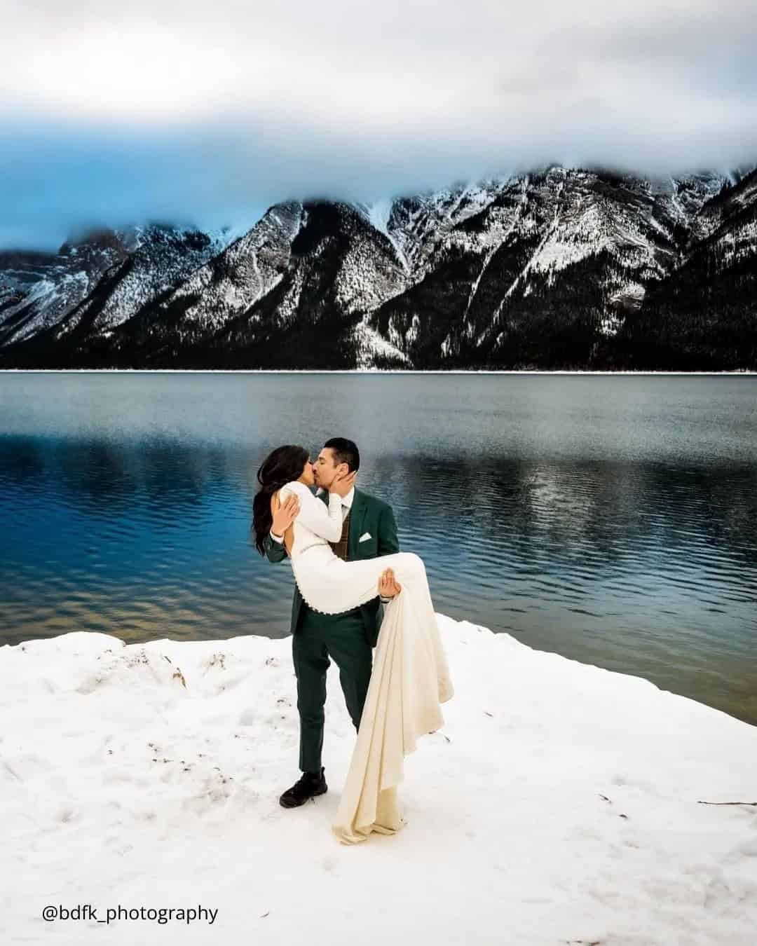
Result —
<path fill-rule="evenodd" d="M 446 725 L 405 762 L 406 827 L 358 846 L 330 831 L 355 741 L 333 664 L 329 791 L 278 804 L 290 638 L 0 648 L 3 942 L 754 946 L 757 727 L 439 620 Z M 119 905 L 144 919 L 99 934 Z"/>

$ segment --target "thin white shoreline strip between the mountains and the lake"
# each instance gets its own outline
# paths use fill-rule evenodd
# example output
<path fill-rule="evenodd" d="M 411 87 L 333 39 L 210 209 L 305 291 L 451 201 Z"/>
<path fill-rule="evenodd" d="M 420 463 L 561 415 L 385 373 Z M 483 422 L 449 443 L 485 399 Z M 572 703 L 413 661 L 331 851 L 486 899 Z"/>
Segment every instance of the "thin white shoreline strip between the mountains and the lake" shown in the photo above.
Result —
<path fill-rule="evenodd" d="M 757 375 L 757 371 L 582 371 L 575 369 L 521 369 L 476 371 L 465 369 L 410 371 L 374 368 L 0 368 L 0 375 L 681 375 L 719 377 Z"/>

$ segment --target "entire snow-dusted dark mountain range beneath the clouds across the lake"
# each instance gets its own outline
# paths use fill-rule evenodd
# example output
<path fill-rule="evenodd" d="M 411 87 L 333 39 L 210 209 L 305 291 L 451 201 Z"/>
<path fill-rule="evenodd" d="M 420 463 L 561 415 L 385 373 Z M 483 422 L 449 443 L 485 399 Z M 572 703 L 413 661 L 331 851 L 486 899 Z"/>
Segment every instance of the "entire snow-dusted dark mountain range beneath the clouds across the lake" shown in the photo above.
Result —
<path fill-rule="evenodd" d="M 754 367 L 756 221 L 754 167 L 544 166 L 99 231 L 0 254 L 0 366 Z"/>

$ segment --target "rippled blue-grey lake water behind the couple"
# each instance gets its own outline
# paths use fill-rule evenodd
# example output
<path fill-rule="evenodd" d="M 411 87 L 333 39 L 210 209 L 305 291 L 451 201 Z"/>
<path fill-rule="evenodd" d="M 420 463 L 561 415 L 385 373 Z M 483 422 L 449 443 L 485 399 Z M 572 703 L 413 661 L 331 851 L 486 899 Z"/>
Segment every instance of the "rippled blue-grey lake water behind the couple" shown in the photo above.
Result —
<path fill-rule="evenodd" d="M 757 378 L 0 374 L 0 644 L 289 633 L 266 452 L 330 436 L 438 611 L 757 724 Z"/>

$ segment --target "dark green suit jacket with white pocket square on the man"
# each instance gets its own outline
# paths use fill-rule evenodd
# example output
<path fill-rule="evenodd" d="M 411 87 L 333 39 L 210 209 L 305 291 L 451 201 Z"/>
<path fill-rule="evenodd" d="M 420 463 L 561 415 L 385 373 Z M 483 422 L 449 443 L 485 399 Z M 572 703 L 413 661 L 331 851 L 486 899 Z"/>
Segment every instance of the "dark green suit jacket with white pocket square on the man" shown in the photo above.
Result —
<path fill-rule="evenodd" d="M 320 498 L 328 502 L 328 494 L 321 493 Z M 361 535 L 370 534 L 370 538 L 359 541 Z M 270 535 L 263 539 L 263 547 L 266 556 L 271 562 L 280 562 L 287 557 L 287 551 L 281 542 L 274 542 Z M 395 514 L 392 507 L 363 493 L 360 489 L 355 489 L 355 496 L 352 500 L 349 518 L 349 533 L 347 534 L 347 560 L 355 561 L 363 558 L 378 558 L 379 555 L 392 555 L 399 552 L 399 542 L 396 537 Z M 291 633 L 297 630 L 297 623 L 300 619 L 300 610 L 302 609 L 302 595 L 300 589 L 294 586 L 294 599 L 291 603 Z M 383 617 L 383 608 L 376 598 L 369 601 L 368 604 L 361 604 L 355 609 L 356 614 L 360 614 L 365 635 L 371 644 L 376 646 L 378 639 L 378 628 Z M 320 615 L 327 621 L 330 615 Z"/>

